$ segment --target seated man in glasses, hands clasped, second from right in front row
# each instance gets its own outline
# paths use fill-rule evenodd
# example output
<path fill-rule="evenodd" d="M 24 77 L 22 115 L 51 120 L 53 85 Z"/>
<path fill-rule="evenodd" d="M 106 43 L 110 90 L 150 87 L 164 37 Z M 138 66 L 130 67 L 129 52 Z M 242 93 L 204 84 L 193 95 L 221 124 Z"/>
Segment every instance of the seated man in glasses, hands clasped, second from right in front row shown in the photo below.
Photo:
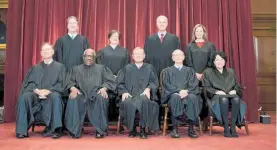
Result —
<path fill-rule="evenodd" d="M 172 59 L 175 62 L 174 66 L 166 68 L 162 75 L 162 103 L 167 103 L 171 109 L 173 124 L 171 137 L 180 137 L 177 129 L 178 117 L 185 115 L 189 121 L 188 136 L 197 138 L 193 123 L 202 108 L 198 80 L 192 68 L 183 66 L 185 59 L 183 51 L 175 50 Z"/>

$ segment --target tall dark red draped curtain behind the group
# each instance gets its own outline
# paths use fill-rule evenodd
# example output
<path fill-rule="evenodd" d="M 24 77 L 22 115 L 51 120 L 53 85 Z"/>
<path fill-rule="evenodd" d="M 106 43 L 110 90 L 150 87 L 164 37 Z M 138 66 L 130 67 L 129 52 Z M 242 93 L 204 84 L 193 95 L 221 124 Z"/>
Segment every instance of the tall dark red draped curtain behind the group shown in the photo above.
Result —
<path fill-rule="evenodd" d="M 169 19 L 168 32 L 180 37 L 182 48 L 192 28 L 201 23 L 217 49 L 229 56 L 228 65 L 247 89 L 249 121 L 257 121 L 255 55 L 250 0 L 10 0 L 5 72 L 4 120 L 15 120 L 16 101 L 24 75 L 38 63 L 43 42 L 54 43 L 66 33 L 66 18 L 77 16 L 80 33 L 98 50 L 108 44 L 107 33 L 122 33 L 121 45 L 130 51 L 156 32 L 156 17 Z"/>

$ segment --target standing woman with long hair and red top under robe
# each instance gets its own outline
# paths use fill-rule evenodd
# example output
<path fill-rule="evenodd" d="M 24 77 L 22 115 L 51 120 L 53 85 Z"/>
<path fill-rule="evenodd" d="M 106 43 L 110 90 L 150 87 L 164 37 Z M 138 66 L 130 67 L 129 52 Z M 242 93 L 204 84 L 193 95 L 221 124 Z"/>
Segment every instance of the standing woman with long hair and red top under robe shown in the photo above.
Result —
<path fill-rule="evenodd" d="M 202 74 L 211 67 L 212 56 L 216 51 L 213 43 L 207 39 L 207 30 L 202 24 L 197 24 L 192 31 L 192 41 L 186 46 L 186 66 L 192 67 L 197 79 L 201 81 Z"/>

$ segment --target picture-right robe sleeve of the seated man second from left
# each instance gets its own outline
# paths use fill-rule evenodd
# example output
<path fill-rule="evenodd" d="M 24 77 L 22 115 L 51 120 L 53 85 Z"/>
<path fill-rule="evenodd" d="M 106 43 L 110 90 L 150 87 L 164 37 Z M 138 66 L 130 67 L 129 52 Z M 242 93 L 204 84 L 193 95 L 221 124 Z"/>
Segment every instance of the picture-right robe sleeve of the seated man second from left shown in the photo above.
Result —
<path fill-rule="evenodd" d="M 104 66 L 104 69 L 102 72 L 102 77 L 103 77 L 103 84 L 101 87 L 105 87 L 109 91 L 114 92 L 116 89 L 115 77 L 114 77 L 112 71 L 106 66 Z"/>

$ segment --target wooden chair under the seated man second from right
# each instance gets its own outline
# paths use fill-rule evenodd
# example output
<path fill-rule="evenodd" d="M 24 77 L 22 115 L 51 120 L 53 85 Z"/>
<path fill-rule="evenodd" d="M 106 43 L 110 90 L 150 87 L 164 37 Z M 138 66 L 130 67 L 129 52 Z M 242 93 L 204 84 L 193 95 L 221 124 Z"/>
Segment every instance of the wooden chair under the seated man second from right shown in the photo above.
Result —
<path fill-rule="evenodd" d="M 163 88 L 162 88 L 163 87 L 163 76 L 164 76 L 166 69 L 168 69 L 168 68 L 163 69 L 160 73 L 160 82 L 159 82 L 159 84 L 160 84 L 159 92 L 160 93 L 163 92 L 162 91 L 163 90 Z M 163 131 L 162 132 L 163 132 L 163 136 L 165 136 L 166 132 L 167 132 L 167 128 L 168 128 L 168 120 L 169 120 L 168 114 L 170 112 L 170 109 L 169 109 L 168 104 L 162 104 L 162 108 L 164 108 L 163 127 L 162 127 Z M 200 117 L 197 117 L 197 119 L 198 119 L 198 125 L 199 125 L 199 132 L 200 132 L 200 135 L 202 135 L 202 125 L 201 125 Z"/>

